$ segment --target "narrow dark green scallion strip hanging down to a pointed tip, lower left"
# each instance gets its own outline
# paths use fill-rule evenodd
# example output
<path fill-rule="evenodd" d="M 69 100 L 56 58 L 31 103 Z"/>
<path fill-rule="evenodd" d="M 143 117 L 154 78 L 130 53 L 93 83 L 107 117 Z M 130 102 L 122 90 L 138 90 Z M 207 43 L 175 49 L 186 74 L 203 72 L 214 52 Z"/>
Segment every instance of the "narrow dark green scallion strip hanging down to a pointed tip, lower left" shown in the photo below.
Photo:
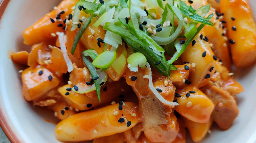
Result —
<path fill-rule="evenodd" d="M 88 56 L 84 56 L 82 55 L 82 59 L 85 63 L 85 65 L 87 66 L 88 70 L 90 71 L 92 77 L 99 77 L 98 73 L 96 72 L 96 68 L 93 66 L 92 62 L 90 61 L 90 59 L 88 58 Z M 97 97 L 99 99 L 100 102 L 100 83 L 99 83 L 99 79 L 94 80 L 94 84 L 95 84 L 95 88 L 96 88 L 96 92 L 97 92 Z"/>

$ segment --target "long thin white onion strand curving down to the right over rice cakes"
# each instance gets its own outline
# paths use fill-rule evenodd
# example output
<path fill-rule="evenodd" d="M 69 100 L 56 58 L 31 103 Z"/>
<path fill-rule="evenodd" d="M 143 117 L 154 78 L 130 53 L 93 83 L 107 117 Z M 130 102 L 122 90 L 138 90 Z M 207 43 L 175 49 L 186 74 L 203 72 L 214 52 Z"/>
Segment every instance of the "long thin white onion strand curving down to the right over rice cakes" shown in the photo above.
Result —
<path fill-rule="evenodd" d="M 168 105 L 168 106 L 176 106 L 176 105 L 179 105 L 179 103 L 167 101 L 166 99 L 164 99 L 164 98 L 158 93 L 158 91 L 156 90 L 156 88 L 153 86 L 152 71 L 151 71 L 150 65 L 149 65 L 148 62 L 147 62 L 146 65 L 147 65 L 148 70 L 149 70 L 149 75 L 148 75 L 149 88 L 150 88 L 150 89 L 152 90 L 152 92 L 156 95 L 156 97 L 157 97 L 164 105 Z"/>

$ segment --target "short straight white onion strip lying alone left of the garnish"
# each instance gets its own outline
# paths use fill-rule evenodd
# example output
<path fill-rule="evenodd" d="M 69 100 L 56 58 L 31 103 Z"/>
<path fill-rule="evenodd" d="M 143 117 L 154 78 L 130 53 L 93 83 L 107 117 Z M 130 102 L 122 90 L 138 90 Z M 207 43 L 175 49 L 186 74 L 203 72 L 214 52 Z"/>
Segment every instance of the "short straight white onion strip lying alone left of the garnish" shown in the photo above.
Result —
<path fill-rule="evenodd" d="M 68 72 L 71 72 L 71 71 L 73 71 L 74 68 L 73 68 L 73 65 L 72 65 L 72 61 L 70 60 L 70 58 L 67 54 L 67 49 L 66 49 L 66 45 L 65 45 L 66 42 L 64 40 L 64 33 L 63 32 L 61 32 L 59 34 L 58 39 L 59 39 L 59 43 L 60 43 L 60 49 L 62 51 L 63 57 L 66 61 L 67 67 L 68 67 Z"/>

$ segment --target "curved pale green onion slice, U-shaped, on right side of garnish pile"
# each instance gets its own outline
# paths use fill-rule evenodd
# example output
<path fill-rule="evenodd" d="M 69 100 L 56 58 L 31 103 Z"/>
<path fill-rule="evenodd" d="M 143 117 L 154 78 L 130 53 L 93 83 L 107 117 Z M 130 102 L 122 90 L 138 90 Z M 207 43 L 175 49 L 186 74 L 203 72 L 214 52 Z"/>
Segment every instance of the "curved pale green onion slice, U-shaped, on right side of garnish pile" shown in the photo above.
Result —
<path fill-rule="evenodd" d="M 171 43 L 172 41 L 174 41 L 180 35 L 182 26 L 183 26 L 183 20 L 180 20 L 179 24 L 178 24 L 178 28 L 170 37 L 160 38 L 160 37 L 152 35 L 151 38 L 154 41 L 156 41 L 159 45 L 167 45 L 167 44 Z"/>

